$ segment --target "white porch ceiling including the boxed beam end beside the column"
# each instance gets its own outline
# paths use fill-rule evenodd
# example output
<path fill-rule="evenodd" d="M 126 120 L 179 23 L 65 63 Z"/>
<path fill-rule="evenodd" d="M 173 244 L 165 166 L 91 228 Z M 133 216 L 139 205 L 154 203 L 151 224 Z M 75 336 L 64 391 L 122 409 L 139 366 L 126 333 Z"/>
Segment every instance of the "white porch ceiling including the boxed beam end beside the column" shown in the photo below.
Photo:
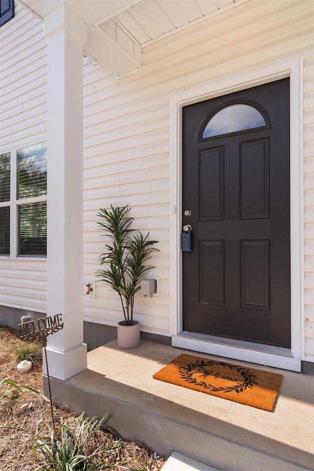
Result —
<path fill-rule="evenodd" d="M 43 18 L 62 0 L 18 0 Z M 88 26 L 85 52 L 117 76 L 141 68 L 141 51 L 249 0 L 65 0 Z"/>

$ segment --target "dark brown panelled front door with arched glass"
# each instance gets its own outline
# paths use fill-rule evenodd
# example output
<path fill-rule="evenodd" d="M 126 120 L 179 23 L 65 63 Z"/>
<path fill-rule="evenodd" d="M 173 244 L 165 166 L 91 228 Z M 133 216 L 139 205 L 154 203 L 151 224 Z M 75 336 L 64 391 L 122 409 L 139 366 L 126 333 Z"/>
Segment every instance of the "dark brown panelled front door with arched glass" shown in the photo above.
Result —
<path fill-rule="evenodd" d="M 183 108 L 184 330 L 290 346 L 289 187 L 288 78 Z"/>

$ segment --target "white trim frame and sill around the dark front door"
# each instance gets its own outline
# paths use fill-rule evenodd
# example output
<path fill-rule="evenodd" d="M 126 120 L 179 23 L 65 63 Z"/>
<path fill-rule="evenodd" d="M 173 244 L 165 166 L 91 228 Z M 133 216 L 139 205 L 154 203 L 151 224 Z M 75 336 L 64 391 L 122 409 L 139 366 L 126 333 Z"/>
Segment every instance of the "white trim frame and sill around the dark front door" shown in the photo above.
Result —
<path fill-rule="evenodd" d="M 291 350 L 264 351 L 248 342 L 182 331 L 182 108 L 267 82 L 290 78 Z M 172 345 L 204 353 L 301 371 L 304 359 L 303 57 L 271 64 L 170 97 L 170 335 Z M 292 223 L 293 221 L 293 223 Z"/>

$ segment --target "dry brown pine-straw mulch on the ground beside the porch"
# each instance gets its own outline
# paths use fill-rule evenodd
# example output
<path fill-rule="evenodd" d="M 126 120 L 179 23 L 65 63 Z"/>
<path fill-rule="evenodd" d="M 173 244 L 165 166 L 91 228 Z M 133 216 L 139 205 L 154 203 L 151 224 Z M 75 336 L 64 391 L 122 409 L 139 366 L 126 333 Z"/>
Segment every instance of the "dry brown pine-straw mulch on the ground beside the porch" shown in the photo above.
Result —
<path fill-rule="evenodd" d="M 0 381 L 11 378 L 19 385 L 41 391 L 41 363 L 33 365 L 27 373 L 21 374 L 17 370 L 19 361 L 14 351 L 20 342 L 16 332 L 0 327 Z M 5 388 L 5 391 L 8 390 L 10 390 L 9 386 Z M 8 404 L 0 404 L 0 417 L 0 470 L 35 470 L 41 463 L 42 455 L 36 452 L 32 456 L 31 445 L 27 443 L 27 440 L 34 438 L 43 424 L 49 423 L 52 427 L 50 402 L 33 392 L 22 392 L 20 398 Z M 56 427 L 61 417 L 67 419 L 70 426 L 76 422 L 76 417 L 70 412 L 54 408 Z M 110 425 L 110 420 L 108 425 Z M 101 432 L 98 440 L 105 440 L 105 435 L 107 435 L 105 432 Z M 97 446 L 96 442 L 95 446 Z M 164 459 L 155 460 L 151 450 L 145 445 L 124 441 L 117 465 L 128 467 L 128 469 L 159 471 L 164 463 Z M 121 471 L 121 469 L 123 468 L 119 466 L 108 468 L 109 471 Z"/>

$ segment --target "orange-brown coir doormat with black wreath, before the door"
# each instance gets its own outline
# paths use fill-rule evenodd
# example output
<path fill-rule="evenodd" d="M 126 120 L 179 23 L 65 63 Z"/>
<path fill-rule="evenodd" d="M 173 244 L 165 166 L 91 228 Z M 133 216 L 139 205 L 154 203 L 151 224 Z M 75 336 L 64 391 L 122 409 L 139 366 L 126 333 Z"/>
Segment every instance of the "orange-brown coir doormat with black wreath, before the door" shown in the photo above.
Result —
<path fill-rule="evenodd" d="M 153 378 L 271 412 L 282 374 L 183 354 Z"/>

